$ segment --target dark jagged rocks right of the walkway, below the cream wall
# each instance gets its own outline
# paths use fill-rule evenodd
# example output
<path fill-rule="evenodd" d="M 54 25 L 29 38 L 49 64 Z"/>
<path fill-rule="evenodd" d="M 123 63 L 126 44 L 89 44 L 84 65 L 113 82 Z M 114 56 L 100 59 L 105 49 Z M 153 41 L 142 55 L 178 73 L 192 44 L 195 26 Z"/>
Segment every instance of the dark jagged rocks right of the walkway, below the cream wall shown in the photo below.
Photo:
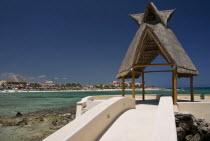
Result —
<path fill-rule="evenodd" d="M 178 141 L 210 141 L 210 122 L 192 114 L 175 113 Z"/>

